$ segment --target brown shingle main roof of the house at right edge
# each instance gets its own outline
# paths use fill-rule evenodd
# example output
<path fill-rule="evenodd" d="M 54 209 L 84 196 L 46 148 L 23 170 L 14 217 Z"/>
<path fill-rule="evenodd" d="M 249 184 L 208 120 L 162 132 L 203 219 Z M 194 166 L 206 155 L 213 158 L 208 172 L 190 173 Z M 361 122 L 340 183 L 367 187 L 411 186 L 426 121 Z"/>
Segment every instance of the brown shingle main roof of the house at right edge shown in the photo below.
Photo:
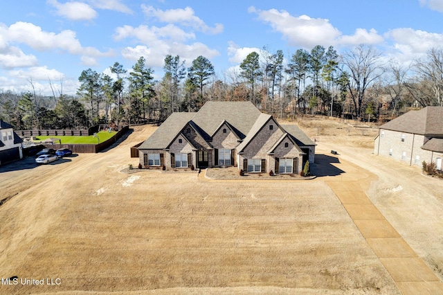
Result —
<path fill-rule="evenodd" d="M 381 125 L 380 129 L 430 136 L 443 135 L 443 107 L 425 107 L 419 111 L 408 111 Z"/>

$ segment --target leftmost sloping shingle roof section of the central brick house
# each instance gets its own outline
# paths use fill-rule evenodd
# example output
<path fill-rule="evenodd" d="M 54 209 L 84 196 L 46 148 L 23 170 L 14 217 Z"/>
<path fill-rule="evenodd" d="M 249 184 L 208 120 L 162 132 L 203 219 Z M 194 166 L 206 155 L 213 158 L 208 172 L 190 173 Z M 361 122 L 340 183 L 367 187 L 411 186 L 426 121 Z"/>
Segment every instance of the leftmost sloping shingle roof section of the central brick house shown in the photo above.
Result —
<path fill-rule="evenodd" d="M 163 124 L 138 148 L 163 150 L 181 132 L 181 129 L 195 116 L 195 113 L 172 113 Z"/>

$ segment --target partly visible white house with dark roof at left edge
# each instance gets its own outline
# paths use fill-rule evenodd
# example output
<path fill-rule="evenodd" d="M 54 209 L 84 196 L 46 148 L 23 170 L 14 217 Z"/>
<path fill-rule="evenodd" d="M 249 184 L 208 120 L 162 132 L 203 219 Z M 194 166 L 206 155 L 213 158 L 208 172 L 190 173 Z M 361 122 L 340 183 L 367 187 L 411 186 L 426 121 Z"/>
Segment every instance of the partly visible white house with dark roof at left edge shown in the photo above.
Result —
<path fill-rule="evenodd" d="M 0 165 L 23 158 L 23 140 L 14 132 L 12 125 L 0 120 Z"/>

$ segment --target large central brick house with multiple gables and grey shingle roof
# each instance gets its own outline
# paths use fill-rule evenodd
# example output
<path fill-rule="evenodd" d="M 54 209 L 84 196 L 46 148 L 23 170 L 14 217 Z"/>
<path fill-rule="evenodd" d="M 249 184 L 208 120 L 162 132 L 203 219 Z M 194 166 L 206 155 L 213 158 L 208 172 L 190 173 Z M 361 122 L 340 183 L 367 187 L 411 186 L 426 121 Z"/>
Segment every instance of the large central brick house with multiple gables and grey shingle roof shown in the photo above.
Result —
<path fill-rule="evenodd" d="M 198 112 L 173 113 L 138 151 L 145 167 L 299 173 L 306 161 L 314 163 L 315 143 L 251 102 L 206 102 Z"/>

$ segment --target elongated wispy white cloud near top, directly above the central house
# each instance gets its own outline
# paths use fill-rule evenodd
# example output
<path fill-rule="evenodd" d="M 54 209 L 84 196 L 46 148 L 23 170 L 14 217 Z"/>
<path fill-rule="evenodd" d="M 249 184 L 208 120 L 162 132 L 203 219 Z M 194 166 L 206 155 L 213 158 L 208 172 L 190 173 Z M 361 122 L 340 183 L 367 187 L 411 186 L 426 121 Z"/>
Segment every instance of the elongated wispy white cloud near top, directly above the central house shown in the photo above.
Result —
<path fill-rule="evenodd" d="M 186 7 L 184 9 L 170 9 L 170 10 L 160 10 L 155 9 L 152 6 L 141 6 L 143 13 L 147 17 L 156 17 L 159 21 L 168 24 L 181 24 L 182 26 L 190 26 L 195 30 L 199 30 L 203 33 L 208 34 L 219 34 L 223 32 L 224 26 L 222 24 L 215 24 L 214 27 L 210 27 L 203 20 L 195 15 L 192 8 Z"/>

